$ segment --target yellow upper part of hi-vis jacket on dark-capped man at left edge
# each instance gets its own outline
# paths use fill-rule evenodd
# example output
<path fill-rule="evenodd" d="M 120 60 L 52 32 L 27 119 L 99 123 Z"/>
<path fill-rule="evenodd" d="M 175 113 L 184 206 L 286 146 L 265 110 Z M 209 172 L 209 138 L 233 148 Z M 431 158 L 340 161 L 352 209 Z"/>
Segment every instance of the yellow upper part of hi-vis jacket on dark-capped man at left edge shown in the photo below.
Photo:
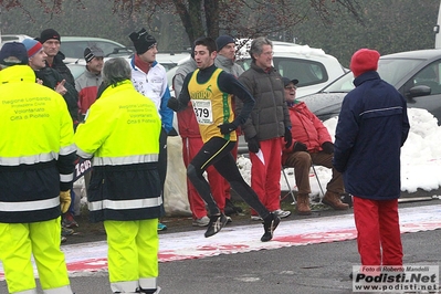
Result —
<path fill-rule="evenodd" d="M 36 84 L 28 65 L 0 73 L 0 165 L 33 165 L 57 159 L 59 153 L 74 153 L 72 119 L 65 115 L 63 97 Z"/>

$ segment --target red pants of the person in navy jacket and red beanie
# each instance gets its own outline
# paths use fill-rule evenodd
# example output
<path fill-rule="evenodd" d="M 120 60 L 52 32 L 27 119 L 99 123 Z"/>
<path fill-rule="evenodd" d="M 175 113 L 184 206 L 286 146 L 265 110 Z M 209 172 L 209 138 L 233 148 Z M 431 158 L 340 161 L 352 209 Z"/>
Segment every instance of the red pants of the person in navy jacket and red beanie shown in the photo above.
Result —
<path fill-rule="evenodd" d="M 361 265 L 402 265 L 398 199 L 354 197 L 354 218 Z"/>

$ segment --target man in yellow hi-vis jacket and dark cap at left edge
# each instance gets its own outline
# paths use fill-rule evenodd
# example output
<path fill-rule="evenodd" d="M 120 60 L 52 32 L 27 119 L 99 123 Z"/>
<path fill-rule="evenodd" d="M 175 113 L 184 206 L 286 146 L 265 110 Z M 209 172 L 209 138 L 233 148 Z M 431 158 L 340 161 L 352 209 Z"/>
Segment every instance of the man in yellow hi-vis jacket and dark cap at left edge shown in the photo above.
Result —
<path fill-rule="evenodd" d="M 36 294 L 33 255 L 44 293 L 72 294 L 60 250 L 74 171 L 72 119 L 63 97 L 35 83 L 22 43 L 6 43 L 0 64 L 0 260 L 8 291 Z"/>

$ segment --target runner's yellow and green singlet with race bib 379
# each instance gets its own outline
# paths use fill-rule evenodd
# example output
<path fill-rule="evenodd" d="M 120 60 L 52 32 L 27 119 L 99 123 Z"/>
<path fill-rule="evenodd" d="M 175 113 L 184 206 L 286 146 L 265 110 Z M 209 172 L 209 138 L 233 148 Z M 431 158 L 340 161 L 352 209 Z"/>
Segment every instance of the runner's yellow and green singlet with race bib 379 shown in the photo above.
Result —
<path fill-rule="evenodd" d="M 218 85 L 218 77 L 221 72 L 222 70 L 217 69 L 207 83 L 199 84 L 197 81 L 199 70 L 196 70 L 188 83 L 188 92 L 203 143 L 212 137 L 221 137 L 232 141 L 238 139 L 235 132 L 222 135 L 218 127 L 234 120 L 232 95 L 222 92 Z"/>

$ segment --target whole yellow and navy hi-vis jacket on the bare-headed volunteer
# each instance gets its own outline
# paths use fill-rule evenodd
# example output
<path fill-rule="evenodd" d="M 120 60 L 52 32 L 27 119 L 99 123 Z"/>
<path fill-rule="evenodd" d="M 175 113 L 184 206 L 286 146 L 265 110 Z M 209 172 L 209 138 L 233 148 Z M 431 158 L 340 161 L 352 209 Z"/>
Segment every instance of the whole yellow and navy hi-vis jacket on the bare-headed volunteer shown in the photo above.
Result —
<path fill-rule="evenodd" d="M 129 80 L 108 86 L 80 124 L 77 155 L 93 158 L 90 219 L 143 220 L 161 216 L 157 161 L 161 120 L 155 104 Z"/>

